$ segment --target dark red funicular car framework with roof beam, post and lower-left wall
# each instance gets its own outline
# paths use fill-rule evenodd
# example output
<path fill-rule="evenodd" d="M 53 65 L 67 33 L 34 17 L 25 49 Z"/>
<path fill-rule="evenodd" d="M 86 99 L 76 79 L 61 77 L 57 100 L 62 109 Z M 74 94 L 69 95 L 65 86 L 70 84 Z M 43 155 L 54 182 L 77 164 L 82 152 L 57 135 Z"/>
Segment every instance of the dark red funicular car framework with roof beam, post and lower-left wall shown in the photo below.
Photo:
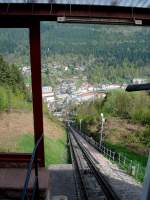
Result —
<path fill-rule="evenodd" d="M 42 187 L 47 189 L 45 182 L 48 176 L 45 170 L 43 139 L 40 22 L 58 21 L 63 23 L 149 26 L 149 6 L 149 0 L 0 0 L 0 28 L 29 29 L 35 138 L 35 148 L 32 154 L 0 153 L 1 169 L 3 168 L 7 172 L 7 176 L 3 176 L 3 178 L 7 177 L 9 179 L 9 184 L 4 179 L 0 180 L 1 199 L 5 197 L 11 199 L 13 190 L 19 191 L 18 196 L 15 197 L 16 199 L 27 198 L 32 167 L 35 168 L 35 190 L 32 188 L 33 192 L 35 191 L 34 199 L 41 198 L 40 184 L 43 184 Z M 30 165 L 27 176 L 24 176 L 26 168 L 25 170 L 22 169 L 21 165 L 27 166 L 28 163 Z M 40 168 L 38 168 L 38 164 Z M 10 168 L 14 165 L 18 171 Z M 18 177 L 19 174 L 20 177 L 23 177 L 22 180 Z M 1 174 L 0 177 L 2 177 Z M 44 180 L 42 177 L 44 177 Z M 17 184 L 22 181 L 19 187 L 16 186 L 18 188 L 15 188 L 16 182 L 14 180 L 17 180 Z M 143 200 L 150 198 L 149 179 L 146 183 Z"/>

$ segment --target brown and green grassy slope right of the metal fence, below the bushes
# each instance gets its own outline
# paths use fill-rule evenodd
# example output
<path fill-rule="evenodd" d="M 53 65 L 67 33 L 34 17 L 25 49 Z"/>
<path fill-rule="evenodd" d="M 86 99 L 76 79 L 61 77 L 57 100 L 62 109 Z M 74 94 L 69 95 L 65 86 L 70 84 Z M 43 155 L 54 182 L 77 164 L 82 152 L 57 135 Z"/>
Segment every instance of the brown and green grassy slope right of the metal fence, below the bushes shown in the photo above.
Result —
<path fill-rule="evenodd" d="M 108 118 L 106 126 L 105 142 L 107 146 L 131 160 L 138 161 L 142 166 L 146 166 L 148 148 L 130 141 L 130 137 L 137 131 L 143 131 L 144 127 L 139 124 L 129 123 L 127 120 L 112 117 Z"/>

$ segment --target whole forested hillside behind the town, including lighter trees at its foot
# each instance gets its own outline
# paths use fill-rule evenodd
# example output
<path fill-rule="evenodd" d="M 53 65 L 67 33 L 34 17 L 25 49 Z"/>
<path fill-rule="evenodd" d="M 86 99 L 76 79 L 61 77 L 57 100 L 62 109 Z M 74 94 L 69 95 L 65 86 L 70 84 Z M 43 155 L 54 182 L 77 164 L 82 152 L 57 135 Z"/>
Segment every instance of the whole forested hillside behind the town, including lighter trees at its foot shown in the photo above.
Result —
<path fill-rule="evenodd" d="M 44 22 L 41 23 L 42 63 L 85 66 L 80 73 L 91 83 L 149 79 L 149 35 L 148 27 Z M 0 30 L 0 53 L 10 63 L 29 64 L 28 31 Z M 63 73 L 61 69 L 53 77 L 62 78 Z M 70 73 L 79 74 L 73 70 Z"/>

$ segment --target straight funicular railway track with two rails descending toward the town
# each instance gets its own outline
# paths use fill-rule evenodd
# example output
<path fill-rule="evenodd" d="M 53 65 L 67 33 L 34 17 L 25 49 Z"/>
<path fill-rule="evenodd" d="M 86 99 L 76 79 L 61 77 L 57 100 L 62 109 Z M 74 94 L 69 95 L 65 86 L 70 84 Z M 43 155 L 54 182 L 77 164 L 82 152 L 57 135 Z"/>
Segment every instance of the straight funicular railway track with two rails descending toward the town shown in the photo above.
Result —
<path fill-rule="evenodd" d="M 78 199 L 119 200 L 108 181 L 100 173 L 96 160 L 79 141 L 76 131 L 70 125 L 68 125 L 68 139 L 72 163 L 76 172 Z"/>

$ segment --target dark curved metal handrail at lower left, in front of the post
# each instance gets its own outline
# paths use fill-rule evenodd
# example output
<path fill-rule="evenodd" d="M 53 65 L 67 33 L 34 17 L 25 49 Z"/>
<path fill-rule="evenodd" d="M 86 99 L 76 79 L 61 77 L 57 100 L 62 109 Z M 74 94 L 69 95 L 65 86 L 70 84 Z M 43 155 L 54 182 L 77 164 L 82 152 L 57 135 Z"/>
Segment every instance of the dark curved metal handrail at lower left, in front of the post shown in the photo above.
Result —
<path fill-rule="evenodd" d="M 42 141 L 42 139 L 43 139 L 43 135 L 39 138 L 39 140 L 37 141 L 37 143 L 33 149 L 31 160 L 29 162 L 28 169 L 27 169 L 27 174 L 26 174 L 26 179 L 25 179 L 25 183 L 24 183 L 24 187 L 23 187 L 23 191 L 22 191 L 22 195 L 21 195 L 21 200 L 29 199 L 28 185 L 29 185 L 29 181 L 30 181 L 30 177 L 31 177 L 33 164 L 34 164 L 34 168 L 35 168 L 35 180 L 34 180 L 34 185 L 33 185 L 32 200 L 39 199 L 37 149 L 38 149 L 39 144 Z"/>

